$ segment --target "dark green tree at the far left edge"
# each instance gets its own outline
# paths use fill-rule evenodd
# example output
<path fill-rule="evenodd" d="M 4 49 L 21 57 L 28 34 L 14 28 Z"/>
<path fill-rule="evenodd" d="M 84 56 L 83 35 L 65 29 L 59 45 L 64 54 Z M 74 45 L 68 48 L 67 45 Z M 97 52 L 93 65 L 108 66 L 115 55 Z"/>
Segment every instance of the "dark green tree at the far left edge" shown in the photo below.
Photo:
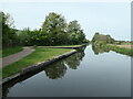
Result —
<path fill-rule="evenodd" d="M 0 12 L 0 24 L 2 24 L 2 46 L 10 47 L 18 45 L 17 30 L 13 29 L 13 19 L 9 13 Z"/>

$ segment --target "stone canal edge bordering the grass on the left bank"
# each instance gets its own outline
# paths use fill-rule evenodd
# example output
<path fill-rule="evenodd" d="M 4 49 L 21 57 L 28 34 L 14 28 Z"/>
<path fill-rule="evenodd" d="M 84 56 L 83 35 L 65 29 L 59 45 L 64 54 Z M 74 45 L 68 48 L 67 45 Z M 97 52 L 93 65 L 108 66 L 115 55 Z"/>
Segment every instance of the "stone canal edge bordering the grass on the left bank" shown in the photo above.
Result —
<path fill-rule="evenodd" d="M 38 69 L 40 69 L 40 68 L 42 68 L 42 67 L 44 67 L 44 66 L 48 66 L 48 65 L 50 65 L 50 64 L 52 64 L 52 63 L 54 63 L 54 62 L 58 62 L 58 61 L 60 61 L 60 59 L 62 59 L 62 58 L 64 58 L 64 57 L 68 57 L 68 56 L 72 55 L 72 54 L 74 54 L 74 53 L 76 53 L 76 52 L 78 52 L 76 50 L 72 50 L 71 52 L 64 53 L 64 54 L 62 54 L 62 55 L 54 56 L 54 57 L 51 58 L 51 59 L 48 59 L 48 61 L 38 63 L 38 64 L 35 64 L 35 65 L 28 66 L 28 67 L 23 68 L 20 73 L 16 74 L 16 75 L 13 75 L 13 76 L 9 76 L 9 77 L 7 77 L 7 78 L 3 78 L 3 79 L 2 79 L 2 82 L 0 82 L 0 85 L 1 85 L 1 84 L 6 84 L 6 82 L 9 82 L 9 81 L 11 81 L 11 80 L 13 80 L 13 79 L 16 79 L 16 78 L 21 77 L 21 76 L 24 76 L 24 75 L 27 75 L 28 73 L 38 70 Z"/>

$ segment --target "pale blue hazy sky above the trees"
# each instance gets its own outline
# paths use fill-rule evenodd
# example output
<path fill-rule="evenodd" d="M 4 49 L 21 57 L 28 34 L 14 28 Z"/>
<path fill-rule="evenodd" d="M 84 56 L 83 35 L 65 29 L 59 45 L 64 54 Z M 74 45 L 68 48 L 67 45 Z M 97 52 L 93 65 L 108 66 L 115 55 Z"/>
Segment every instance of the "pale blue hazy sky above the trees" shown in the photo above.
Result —
<path fill-rule="evenodd" d="M 95 32 L 131 40 L 130 2 L 3 2 L 2 10 L 12 15 L 19 30 L 40 29 L 49 12 L 57 12 L 68 23 L 78 20 L 89 40 Z"/>

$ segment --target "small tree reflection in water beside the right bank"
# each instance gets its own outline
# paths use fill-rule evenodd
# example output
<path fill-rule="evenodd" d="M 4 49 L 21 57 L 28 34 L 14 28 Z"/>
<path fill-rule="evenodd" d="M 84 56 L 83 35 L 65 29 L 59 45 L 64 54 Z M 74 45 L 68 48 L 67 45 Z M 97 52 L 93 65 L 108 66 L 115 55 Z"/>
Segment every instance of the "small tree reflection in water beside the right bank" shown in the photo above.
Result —
<path fill-rule="evenodd" d="M 111 50 L 106 50 L 102 46 L 96 46 L 92 44 L 92 51 L 94 52 L 95 55 L 99 55 L 100 53 L 109 53 Z"/>

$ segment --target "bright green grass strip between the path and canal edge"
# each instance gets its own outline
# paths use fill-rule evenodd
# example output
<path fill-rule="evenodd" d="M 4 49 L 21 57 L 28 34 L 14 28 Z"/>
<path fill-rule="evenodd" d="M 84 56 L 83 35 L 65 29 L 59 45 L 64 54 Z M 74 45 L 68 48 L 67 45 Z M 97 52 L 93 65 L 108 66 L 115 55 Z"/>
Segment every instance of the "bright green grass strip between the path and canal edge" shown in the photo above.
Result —
<path fill-rule="evenodd" d="M 21 72 L 21 69 L 27 66 L 50 59 L 54 56 L 61 55 L 70 51 L 71 50 L 64 50 L 64 48 L 35 48 L 35 51 L 32 54 L 28 55 L 27 57 L 3 67 L 2 78 L 14 75 Z"/>

